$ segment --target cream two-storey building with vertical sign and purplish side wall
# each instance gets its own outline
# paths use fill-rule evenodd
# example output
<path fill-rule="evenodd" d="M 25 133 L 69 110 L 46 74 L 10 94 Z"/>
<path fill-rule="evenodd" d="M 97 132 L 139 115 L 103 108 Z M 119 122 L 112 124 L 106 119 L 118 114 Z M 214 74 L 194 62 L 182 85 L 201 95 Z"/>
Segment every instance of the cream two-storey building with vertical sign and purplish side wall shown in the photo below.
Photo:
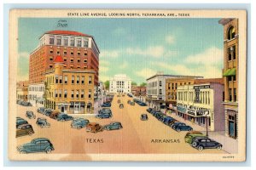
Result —
<path fill-rule="evenodd" d="M 222 78 L 198 79 L 177 87 L 177 116 L 210 131 L 224 131 L 224 82 Z"/>

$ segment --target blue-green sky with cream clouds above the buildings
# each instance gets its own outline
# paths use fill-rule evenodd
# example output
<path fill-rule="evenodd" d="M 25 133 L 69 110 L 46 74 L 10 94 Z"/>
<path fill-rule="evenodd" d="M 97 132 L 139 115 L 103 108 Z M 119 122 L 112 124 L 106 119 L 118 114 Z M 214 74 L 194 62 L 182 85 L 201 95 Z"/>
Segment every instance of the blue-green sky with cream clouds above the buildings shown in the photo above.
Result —
<path fill-rule="evenodd" d="M 67 20 L 67 27 L 58 27 Z M 19 19 L 19 80 L 28 79 L 29 54 L 46 31 L 79 31 L 93 36 L 100 49 L 99 78 L 126 74 L 146 82 L 165 74 L 222 77 L 223 26 L 220 19 Z"/>

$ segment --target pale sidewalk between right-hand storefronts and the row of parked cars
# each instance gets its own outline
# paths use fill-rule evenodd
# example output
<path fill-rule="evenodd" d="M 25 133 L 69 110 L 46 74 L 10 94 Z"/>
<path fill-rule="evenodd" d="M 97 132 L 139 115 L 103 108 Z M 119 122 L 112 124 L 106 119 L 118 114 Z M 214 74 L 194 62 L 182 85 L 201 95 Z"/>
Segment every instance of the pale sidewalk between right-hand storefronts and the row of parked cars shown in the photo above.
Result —
<path fill-rule="evenodd" d="M 200 131 L 202 133 L 207 133 L 207 128 L 201 127 L 193 122 L 189 122 L 188 120 L 184 120 L 180 116 L 176 116 L 175 113 L 172 112 L 172 114 L 167 113 L 166 115 L 172 116 L 174 119 L 176 119 L 179 122 L 184 122 L 190 127 L 193 127 L 194 131 Z M 224 131 L 208 131 L 208 136 L 210 139 L 218 141 L 220 144 L 223 144 L 223 150 L 230 154 L 235 154 L 238 152 L 238 141 L 237 139 L 232 139 L 228 136 L 225 136 Z"/>

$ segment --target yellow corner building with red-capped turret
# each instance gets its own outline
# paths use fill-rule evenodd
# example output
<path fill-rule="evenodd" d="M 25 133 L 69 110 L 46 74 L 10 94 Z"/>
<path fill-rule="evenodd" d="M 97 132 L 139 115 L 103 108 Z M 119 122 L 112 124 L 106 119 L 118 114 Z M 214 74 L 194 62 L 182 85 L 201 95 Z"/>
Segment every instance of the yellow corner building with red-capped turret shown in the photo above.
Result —
<path fill-rule="evenodd" d="M 67 69 L 61 56 L 45 72 L 44 105 L 67 114 L 94 113 L 93 70 Z"/>

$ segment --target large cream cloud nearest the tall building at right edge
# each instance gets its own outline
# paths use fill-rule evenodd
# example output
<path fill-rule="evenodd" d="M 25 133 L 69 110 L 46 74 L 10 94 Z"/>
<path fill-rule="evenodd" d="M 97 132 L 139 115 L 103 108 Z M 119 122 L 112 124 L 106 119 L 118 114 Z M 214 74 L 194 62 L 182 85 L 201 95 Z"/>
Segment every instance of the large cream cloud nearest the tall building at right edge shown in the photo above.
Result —
<path fill-rule="evenodd" d="M 223 57 L 223 50 L 212 47 L 200 54 L 189 55 L 185 59 L 185 62 L 188 64 L 216 65 L 219 62 L 223 62 Z"/>

